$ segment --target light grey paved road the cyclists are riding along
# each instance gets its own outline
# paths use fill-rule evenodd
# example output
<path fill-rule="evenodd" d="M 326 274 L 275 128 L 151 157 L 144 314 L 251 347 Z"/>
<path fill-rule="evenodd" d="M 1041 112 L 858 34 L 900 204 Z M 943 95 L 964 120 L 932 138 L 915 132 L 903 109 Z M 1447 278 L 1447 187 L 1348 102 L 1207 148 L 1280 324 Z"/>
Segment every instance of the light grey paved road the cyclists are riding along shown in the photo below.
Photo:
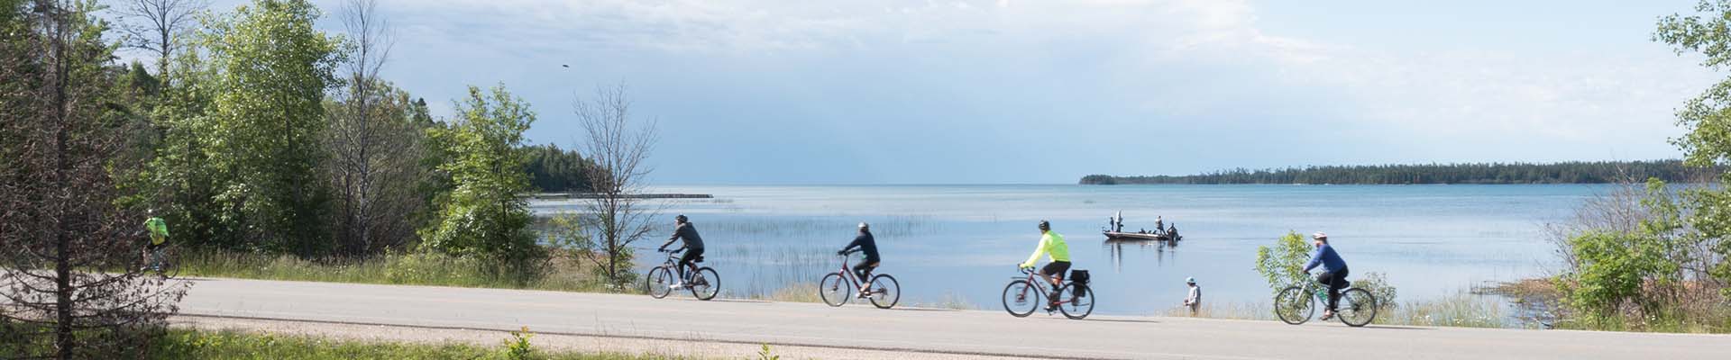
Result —
<path fill-rule="evenodd" d="M 208 279 L 182 313 L 1051 358 L 1731 358 L 1731 336 L 1451 327 L 1300 327 L 1168 317 L 696 301 L 621 294 Z M 1331 344 L 1333 350 L 1321 350 Z"/>

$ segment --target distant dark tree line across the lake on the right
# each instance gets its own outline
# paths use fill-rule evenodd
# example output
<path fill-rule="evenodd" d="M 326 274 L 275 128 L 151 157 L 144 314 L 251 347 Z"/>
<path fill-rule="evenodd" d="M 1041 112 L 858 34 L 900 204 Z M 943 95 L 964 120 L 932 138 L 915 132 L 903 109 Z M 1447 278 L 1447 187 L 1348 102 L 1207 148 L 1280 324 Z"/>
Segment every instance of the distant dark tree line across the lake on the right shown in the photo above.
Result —
<path fill-rule="evenodd" d="M 1459 163 L 1459 164 L 1355 164 L 1269 170 L 1222 170 L 1201 175 L 1113 177 L 1087 175 L 1082 185 L 1165 183 L 1618 183 L 1658 178 L 1665 182 L 1708 182 L 1721 168 L 1688 166 L 1681 159 L 1658 161 L 1568 161 L 1568 163 Z"/>

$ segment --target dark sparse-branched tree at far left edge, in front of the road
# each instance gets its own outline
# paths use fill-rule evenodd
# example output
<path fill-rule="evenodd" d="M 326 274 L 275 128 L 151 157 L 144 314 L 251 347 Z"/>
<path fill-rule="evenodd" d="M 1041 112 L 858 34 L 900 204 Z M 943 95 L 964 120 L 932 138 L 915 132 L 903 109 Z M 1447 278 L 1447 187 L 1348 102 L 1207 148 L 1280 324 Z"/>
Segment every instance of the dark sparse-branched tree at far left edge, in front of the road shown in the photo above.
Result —
<path fill-rule="evenodd" d="M 133 265 L 132 111 L 90 0 L 0 0 L 0 357 L 140 358 L 185 286 Z"/>

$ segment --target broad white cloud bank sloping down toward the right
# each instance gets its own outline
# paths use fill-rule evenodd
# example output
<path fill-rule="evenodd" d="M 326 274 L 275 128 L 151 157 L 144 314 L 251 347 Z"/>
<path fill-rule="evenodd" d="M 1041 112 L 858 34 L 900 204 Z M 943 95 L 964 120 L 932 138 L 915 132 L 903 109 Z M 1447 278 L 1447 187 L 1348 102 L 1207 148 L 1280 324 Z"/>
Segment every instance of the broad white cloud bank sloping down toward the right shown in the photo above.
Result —
<path fill-rule="evenodd" d="M 753 71 L 869 59 L 876 68 L 850 69 L 878 71 L 857 74 L 864 81 L 975 74 L 1063 85 L 1021 90 L 956 81 L 985 93 L 957 102 L 981 104 L 938 106 L 1028 107 L 1006 92 L 1084 92 L 1078 97 L 1104 97 L 1092 106 L 1108 114 L 1149 111 L 1222 123 L 1217 118 L 1227 112 L 1290 114 L 1432 147 L 1485 137 L 1662 144 L 1676 133 L 1665 126 L 1670 109 L 1715 78 L 1657 47 L 1638 55 L 1423 52 L 1295 36 L 1262 28 L 1258 9 L 1243 0 L 386 2 L 414 38 L 473 47 L 459 50 L 762 64 Z"/>

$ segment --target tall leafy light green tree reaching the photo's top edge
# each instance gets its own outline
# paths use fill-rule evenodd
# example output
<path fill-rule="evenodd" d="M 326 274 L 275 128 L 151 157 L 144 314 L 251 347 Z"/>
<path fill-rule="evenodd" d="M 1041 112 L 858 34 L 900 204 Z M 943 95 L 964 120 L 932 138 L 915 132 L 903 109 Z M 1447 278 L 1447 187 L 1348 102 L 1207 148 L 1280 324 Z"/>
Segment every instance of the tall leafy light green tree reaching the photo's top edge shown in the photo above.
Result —
<path fill-rule="evenodd" d="M 339 36 L 313 28 L 305 0 L 254 0 L 227 19 L 206 19 L 211 106 L 203 116 L 218 171 L 223 220 L 248 246 L 313 256 L 325 241 L 327 187 L 317 170 L 325 130 L 324 93 L 338 85 Z"/>

